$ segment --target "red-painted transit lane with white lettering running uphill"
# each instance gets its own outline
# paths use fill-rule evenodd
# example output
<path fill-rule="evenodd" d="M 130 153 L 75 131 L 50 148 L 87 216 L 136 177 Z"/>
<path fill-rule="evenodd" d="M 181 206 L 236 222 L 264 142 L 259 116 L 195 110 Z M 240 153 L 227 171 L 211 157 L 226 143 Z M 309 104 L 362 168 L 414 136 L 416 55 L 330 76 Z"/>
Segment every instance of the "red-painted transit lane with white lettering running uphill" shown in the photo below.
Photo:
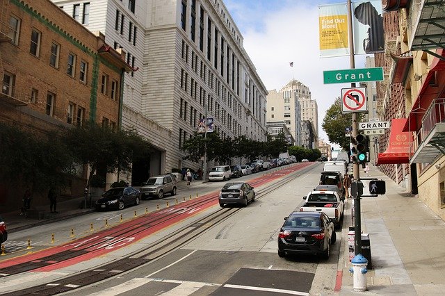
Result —
<path fill-rule="evenodd" d="M 292 167 L 251 179 L 249 183 L 255 187 L 261 186 L 308 165 L 310 165 L 310 163 L 298 163 Z M 214 191 L 207 195 L 203 195 L 200 199 L 193 199 L 171 206 L 162 211 L 148 213 L 128 222 L 122 222 L 122 224 L 109 227 L 108 229 L 104 229 L 90 236 L 67 242 L 64 245 L 50 247 L 16 258 L 10 258 L 3 262 L 0 261 L 0 272 L 3 268 L 9 268 L 11 266 L 29 262 L 44 263 L 42 264 L 44 266 L 35 268 L 33 271 L 49 272 L 108 254 L 193 217 L 194 215 L 207 210 L 207 208 L 216 206 L 218 204 L 218 193 L 219 191 Z M 197 204 L 197 201 L 203 199 L 208 200 L 205 203 L 200 202 L 200 204 Z M 61 256 L 62 259 L 58 261 L 57 255 L 67 254 L 67 252 L 72 252 L 73 256 Z"/>

